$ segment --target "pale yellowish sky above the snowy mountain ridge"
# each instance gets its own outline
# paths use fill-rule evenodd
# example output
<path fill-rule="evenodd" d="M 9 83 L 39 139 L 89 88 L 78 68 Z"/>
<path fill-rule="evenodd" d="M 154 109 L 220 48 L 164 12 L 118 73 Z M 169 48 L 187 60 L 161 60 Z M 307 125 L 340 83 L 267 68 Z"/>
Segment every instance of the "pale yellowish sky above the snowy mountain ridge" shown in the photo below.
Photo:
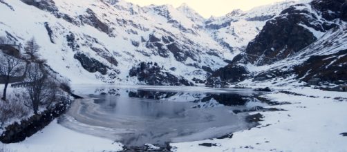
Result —
<path fill-rule="evenodd" d="M 208 18 L 211 15 L 222 16 L 226 15 L 234 9 L 250 10 L 256 6 L 263 6 L 283 0 L 126 0 L 139 6 L 148 6 L 151 4 L 162 5 L 171 4 L 173 7 L 178 7 L 182 3 L 187 3 L 188 6 L 196 10 L 203 17 Z"/>

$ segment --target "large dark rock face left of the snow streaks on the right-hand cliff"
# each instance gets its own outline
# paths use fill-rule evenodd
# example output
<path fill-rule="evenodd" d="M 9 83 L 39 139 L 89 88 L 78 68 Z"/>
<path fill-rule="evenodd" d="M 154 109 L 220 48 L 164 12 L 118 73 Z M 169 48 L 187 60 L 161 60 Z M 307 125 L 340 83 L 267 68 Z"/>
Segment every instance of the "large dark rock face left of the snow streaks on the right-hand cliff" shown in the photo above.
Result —
<path fill-rule="evenodd" d="M 238 55 L 234 60 L 256 65 L 272 64 L 315 41 L 315 35 L 299 24 L 315 28 L 312 24 L 317 17 L 307 10 L 297 10 L 296 7 L 291 6 L 283 10 L 281 16 L 268 21 L 259 35 L 247 45 L 245 55 Z"/>

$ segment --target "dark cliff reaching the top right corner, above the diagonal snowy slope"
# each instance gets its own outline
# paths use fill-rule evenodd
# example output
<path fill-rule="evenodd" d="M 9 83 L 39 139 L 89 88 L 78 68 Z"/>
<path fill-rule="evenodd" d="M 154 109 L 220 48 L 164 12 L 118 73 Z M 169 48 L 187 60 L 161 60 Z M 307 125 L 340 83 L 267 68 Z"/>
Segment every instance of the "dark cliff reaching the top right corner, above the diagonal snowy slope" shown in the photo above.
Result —
<path fill-rule="evenodd" d="M 316 41 L 320 33 L 337 26 L 333 20 L 341 17 L 343 4 L 344 1 L 312 1 L 310 5 L 290 6 L 268 21 L 235 61 L 261 66 L 294 55 Z"/>

